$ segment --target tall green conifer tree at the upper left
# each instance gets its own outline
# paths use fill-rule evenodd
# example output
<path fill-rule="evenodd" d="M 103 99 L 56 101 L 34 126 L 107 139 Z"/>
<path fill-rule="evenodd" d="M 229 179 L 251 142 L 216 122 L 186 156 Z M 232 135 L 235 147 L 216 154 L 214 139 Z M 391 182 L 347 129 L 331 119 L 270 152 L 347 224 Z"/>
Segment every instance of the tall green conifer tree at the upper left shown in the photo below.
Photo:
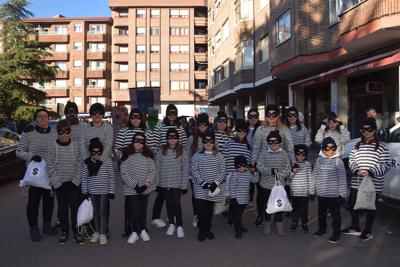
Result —
<path fill-rule="evenodd" d="M 34 110 L 46 99 L 46 93 L 26 84 L 26 79 L 43 85 L 51 82 L 60 69 L 46 66 L 41 60 L 52 56 L 45 43 L 29 40 L 36 35 L 33 25 L 24 22 L 33 17 L 26 10 L 31 3 L 25 0 L 9 0 L 0 5 L 0 42 L 4 53 L 0 54 L 0 116 L 10 117 Z M 19 110 L 19 112 L 17 112 Z"/>

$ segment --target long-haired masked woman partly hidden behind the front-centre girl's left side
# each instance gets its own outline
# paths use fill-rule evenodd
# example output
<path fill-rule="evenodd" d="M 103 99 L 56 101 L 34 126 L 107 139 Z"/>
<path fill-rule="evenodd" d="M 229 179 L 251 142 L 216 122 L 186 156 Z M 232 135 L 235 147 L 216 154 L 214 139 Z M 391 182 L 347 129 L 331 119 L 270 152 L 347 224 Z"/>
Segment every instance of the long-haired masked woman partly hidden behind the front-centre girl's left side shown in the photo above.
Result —
<path fill-rule="evenodd" d="M 186 142 L 185 150 L 189 155 L 189 166 L 192 160 L 192 157 L 196 152 L 201 151 L 203 149 L 203 142 L 201 136 L 204 132 L 210 130 L 210 121 L 208 120 L 208 115 L 206 113 L 201 113 L 197 116 L 196 128 L 194 129 L 193 135 L 188 138 Z M 190 187 L 192 188 L 192 206 L 193 206 L 193 227 L 197 227 L 197 213 L 196 213 L 196 201 L 194 200 L 194 191 L 193 191 L 193 175 L 192 168 L 189 169 L 189 182 Z"/>

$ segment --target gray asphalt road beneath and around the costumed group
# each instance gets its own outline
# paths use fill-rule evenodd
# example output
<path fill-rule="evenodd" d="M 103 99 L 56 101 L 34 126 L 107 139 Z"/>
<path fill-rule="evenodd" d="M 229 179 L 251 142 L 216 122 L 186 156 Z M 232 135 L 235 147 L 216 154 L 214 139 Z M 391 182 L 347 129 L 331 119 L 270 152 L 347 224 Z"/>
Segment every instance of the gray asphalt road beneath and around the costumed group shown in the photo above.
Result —
<path fill-rule="evenodd" d="M 117 191 L 111 201 L 110 231 L 107 245 L 86 241 L 78 246 L 70 238 L 66 245 L 58 245 L 60 235 L 42 235 L 43 240 L 32 242 L 26 219 L 28 197 L 18 187 L 18 177 L 0 182 L 0 266 L 399 266 L 400 211 L 380 206 L 372 229 L 374 238 L 359 241 L 354 235 L 342 235 L 336 243 L 328 242 L 332 229 L 328 217 L 327 235 L 315 238 L 318 229 L 318 203 L 309 205 L 310 233 L 290 232 L 291 220 L 284 218 L 286 235 L 278 237 L 272 229 L 270 236 L 262 235 L 262 227 L 255 227 L 256 217 L 244 213 L 243 225 L 249 229 L 242 240 L 235 239 L 233 227 L 226 226 L 220 215 L 213 218 L 214 240 L 197 241 L 198 230 L 192 227 L 190 191 L 182 197 L 184 231 L 178 239 L 165 234 L 167 228 L 150 225 L 151 210 L 156 193 L 150 194 L 148 229 L 151 241 L 141 239 L 127 244 L 121 237 L 124 224 L 124 196 L 122 181 L 117 171 Z M 53 223 L 56 222 L 54 207 Z M 41 208 L 39 224 L 42 224 Z M 166 219 L 165 205 L 162 219 Z M 342 209 L 342 228 L 350 223 L 350 214 Z M 365 214 L 361 225 L 365 223 Z M 72 231 L 70 231 L 72 232 Z"/>

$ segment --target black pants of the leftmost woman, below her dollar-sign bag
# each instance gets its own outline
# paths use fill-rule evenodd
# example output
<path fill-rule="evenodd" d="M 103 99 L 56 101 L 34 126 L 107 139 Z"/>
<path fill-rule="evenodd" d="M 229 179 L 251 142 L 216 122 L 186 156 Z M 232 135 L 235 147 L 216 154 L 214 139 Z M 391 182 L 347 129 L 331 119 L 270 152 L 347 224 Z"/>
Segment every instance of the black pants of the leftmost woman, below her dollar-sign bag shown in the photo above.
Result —
<path fill-rule="evenodd" d="M 28 189 L 28 205 L 26 205 L 26 217 L 28 217 L 29 227 L 38 226 L 40 199 L 43 200 L 43 223 L 51 223 L 54 209 L 54 195 L 51 196 L 50 189 L 31 185 Z"/>

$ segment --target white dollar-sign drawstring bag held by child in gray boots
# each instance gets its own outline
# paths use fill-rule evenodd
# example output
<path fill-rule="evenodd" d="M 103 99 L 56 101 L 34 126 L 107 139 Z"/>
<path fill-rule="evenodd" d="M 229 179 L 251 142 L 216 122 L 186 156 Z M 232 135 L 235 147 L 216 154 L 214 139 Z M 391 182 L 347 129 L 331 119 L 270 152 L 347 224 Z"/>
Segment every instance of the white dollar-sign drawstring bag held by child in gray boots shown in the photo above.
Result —
<path fill-rule="evenodd" d="M 273 214 L 280 211 L 292 211 L 292 206 L 284 187 L 281 185 L 279 179 L 275 177 L 275 186 L 272 187 L 270 197 L 268 198 L 266 212 Z"/>

